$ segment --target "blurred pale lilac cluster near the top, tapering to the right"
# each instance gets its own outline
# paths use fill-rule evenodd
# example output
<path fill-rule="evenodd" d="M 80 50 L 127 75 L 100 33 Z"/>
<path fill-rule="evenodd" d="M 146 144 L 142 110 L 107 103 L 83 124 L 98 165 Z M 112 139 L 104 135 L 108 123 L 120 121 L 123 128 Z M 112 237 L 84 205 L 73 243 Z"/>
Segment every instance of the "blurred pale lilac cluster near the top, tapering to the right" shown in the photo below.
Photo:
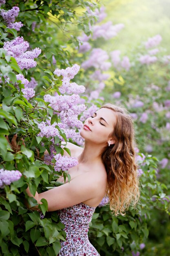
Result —
<path fill-rule="evenodd" d="M 99 37 L 103 37 L 105 40 L 117 36 L 117 33 L 124 28 L 124 24 L 113 25 L 111 21 L 108 21 L 102 25 L 93 26 L 93 39 L 96 40 Z"/>

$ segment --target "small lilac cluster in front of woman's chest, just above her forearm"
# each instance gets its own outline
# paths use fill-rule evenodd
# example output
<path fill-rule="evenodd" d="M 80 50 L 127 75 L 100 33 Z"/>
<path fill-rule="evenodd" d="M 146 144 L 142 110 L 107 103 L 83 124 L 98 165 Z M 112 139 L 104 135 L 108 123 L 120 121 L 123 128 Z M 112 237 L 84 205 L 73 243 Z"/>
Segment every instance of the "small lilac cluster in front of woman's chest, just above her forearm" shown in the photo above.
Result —
<path fill-rule="evenodd" d="M 67 171 L 69 168 L 72 168 L 78 164 L 76 157 L 67 157 L 57 154 L 54 156 L 54 158 L 56 161 L 54 166 L 55 171 Z"/>

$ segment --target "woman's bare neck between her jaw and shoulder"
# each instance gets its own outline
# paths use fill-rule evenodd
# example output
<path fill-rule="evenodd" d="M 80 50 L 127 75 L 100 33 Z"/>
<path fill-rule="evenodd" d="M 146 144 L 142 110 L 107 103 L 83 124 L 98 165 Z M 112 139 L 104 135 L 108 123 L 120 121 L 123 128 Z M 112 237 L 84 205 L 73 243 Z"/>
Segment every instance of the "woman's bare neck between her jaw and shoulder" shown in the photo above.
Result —
<path fill-rule="evenodd" d="M 102 161 L 103 146 L 92 142 L 85 142 L 84 150 L 79 156 L 79 163 L 94 164 Z"/>

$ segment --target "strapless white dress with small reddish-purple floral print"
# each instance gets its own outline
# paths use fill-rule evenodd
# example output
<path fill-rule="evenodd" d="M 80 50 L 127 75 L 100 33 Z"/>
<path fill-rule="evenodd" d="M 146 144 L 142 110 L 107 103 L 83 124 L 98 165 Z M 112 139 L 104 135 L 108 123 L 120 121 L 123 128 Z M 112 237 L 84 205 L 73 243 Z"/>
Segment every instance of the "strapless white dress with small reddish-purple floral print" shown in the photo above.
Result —
<path fill-rule="evenodd" d="M 66 241 L 61 241 L 58 256 L 100 256 L 87 234 L 95 208 L 79 203 L 59 211 L 60 220 L 65 225 Z"/>

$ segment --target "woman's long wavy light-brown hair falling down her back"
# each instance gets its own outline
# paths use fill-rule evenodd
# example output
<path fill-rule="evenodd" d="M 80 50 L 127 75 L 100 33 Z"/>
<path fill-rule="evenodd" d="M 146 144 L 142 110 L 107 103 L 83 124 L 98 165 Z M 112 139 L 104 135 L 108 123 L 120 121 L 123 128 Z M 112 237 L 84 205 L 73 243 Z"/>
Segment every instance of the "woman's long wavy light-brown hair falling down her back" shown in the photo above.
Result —
<path fill-rule="evenodd" d="M 113 110 L 117 118 L 113 132 L 109 135 L 115 139 L 115 144 L 104 149 L 102 161 L 107 172 L 110 209 L 115 215 L 125 215 L 130 205 L 136 206 L 140 195 L 133 121 L 124 107 L 108 103 L 101 108 Z"/>

